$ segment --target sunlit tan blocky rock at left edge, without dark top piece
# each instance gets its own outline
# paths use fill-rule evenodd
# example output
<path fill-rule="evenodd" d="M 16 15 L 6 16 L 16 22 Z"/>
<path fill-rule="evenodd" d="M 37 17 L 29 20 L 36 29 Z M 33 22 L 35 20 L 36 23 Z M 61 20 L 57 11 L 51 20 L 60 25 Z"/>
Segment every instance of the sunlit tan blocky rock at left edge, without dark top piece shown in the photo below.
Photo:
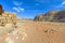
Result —
<path fill-rule="evenodd" d="M 4 24 L 16 24 L 17 22 L 17 17 L 15 13 L 2 13 L 2 15 L 0 15 L 0 25 L 4 25 Z"/>

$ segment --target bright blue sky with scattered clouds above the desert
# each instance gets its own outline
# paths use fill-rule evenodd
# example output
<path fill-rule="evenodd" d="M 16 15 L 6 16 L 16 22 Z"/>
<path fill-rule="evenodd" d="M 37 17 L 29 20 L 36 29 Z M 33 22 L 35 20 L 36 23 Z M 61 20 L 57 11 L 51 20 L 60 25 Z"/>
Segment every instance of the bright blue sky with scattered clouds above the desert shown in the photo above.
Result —
<path fill-rule="evenodd" d="M 3 10 L 18 17 L 34 18 L 39 13 L 65 9 L 65 0 L 0 0 Z"/>

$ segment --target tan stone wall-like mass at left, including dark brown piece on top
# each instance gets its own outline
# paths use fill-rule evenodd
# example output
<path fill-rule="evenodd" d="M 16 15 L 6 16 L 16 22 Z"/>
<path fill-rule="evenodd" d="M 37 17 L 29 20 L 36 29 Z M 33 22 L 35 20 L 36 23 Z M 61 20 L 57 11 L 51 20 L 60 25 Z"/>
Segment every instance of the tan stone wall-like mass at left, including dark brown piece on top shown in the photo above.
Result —
<path fill-rule="evenodd" d="M 5 12 L 0 4 L 0 26 L 4 26 L 5 24 L 16 25 L 17 16 L 15 13 Z"/>

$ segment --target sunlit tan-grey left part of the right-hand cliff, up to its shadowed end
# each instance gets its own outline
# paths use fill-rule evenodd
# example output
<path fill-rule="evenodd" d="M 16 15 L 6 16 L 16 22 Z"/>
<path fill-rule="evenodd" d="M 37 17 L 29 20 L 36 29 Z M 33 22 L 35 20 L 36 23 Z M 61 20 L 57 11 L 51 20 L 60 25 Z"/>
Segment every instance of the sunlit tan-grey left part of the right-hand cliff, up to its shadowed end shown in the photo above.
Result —
<path fill-rule="evenodd" d="M 52 20 L 56 13 L 57 13 L 56 11 L 50 11 L 42 15 L 39 14 L 38 16 L 35 17 L 35 20 Z"/>

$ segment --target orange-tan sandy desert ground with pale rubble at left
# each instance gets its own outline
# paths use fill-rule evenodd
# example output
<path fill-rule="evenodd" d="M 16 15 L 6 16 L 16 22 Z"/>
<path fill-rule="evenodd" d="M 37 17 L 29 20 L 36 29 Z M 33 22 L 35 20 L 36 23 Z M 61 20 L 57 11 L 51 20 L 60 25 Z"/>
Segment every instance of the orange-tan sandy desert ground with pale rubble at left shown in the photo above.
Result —
<path fill-rule="evenodd" d="M 0 43 L 65 43 L 65 23 L 17 22 L 0 27 Z"/>

